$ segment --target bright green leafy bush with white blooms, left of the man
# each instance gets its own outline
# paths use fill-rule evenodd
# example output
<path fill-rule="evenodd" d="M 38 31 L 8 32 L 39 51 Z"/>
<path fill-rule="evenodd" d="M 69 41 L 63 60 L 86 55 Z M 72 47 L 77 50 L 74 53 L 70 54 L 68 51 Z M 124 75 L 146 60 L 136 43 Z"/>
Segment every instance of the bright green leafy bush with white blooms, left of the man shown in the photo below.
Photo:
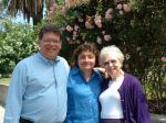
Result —
<path fill-rule="evenodd" d="M 29 24 L 15 24 L 9 19 L 1 21 L 0 74 L 11 74 L 15 64 L 37 51 L 37 37 Z"/>

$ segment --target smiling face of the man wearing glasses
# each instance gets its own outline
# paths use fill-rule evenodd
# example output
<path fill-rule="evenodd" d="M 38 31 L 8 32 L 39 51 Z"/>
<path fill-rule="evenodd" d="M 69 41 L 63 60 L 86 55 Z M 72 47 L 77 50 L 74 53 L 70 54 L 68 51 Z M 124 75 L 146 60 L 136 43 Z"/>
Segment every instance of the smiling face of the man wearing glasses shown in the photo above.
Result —
<path fill-rule="evenodd" d="M 43 54 L 48 59 L 55 59 L 61 49 L 60 35 L 53 32 L 48 32 L 43 34 L 43 38 L 39 41 L 39 47 L 41 54 Z"/>

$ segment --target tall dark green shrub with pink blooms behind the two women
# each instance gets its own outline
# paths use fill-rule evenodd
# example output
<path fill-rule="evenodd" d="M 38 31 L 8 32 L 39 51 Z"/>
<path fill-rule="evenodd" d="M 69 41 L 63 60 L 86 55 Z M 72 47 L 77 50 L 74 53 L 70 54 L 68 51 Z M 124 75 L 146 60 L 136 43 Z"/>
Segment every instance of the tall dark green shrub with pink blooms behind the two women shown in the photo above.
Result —
<path fill-rule="evenodd" d="M 65 15 L 55 16 L 54 22 L 65 29 L 65 47 L 84 42 L 94 42 L 100 49 L 117 45 L 125 55 L 124 69 L 143 81 L 149 99 L 163 100 L 166 99 L 165 4 L 165 0 L 90 0 L 89 4 L 75 5 Z M 73 49 L 69 51 L 70 59 Z M 166 103 L 158 105 L 166 108 Z"/>

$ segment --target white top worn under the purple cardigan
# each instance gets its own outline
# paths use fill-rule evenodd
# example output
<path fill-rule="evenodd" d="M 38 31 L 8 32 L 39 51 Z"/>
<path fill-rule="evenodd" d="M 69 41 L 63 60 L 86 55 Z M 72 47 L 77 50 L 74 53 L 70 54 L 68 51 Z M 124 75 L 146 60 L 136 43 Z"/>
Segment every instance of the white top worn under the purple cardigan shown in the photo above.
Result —
<path fill-rule="evenodd" d="M 123 119 L 123 109 L 121 97 L 117 89 L 121 87 L 124 78 L 116 81 L 110 80 L 108 88 L 100 96 L 102 105 L 101 119 Z"/>

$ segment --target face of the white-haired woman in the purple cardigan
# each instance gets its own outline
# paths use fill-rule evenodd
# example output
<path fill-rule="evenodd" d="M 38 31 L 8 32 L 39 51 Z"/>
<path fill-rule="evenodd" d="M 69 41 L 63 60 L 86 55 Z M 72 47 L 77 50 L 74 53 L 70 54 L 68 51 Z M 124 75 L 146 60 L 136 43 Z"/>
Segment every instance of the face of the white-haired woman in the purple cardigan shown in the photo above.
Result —
<path fill-rule="evenodd" d="M 116 78 L 121 72 L 122 63 L 120 62 L 116 54 L 107 54 L 103 58 L 103 66 L 106 72 L 112 77 Z"/>

